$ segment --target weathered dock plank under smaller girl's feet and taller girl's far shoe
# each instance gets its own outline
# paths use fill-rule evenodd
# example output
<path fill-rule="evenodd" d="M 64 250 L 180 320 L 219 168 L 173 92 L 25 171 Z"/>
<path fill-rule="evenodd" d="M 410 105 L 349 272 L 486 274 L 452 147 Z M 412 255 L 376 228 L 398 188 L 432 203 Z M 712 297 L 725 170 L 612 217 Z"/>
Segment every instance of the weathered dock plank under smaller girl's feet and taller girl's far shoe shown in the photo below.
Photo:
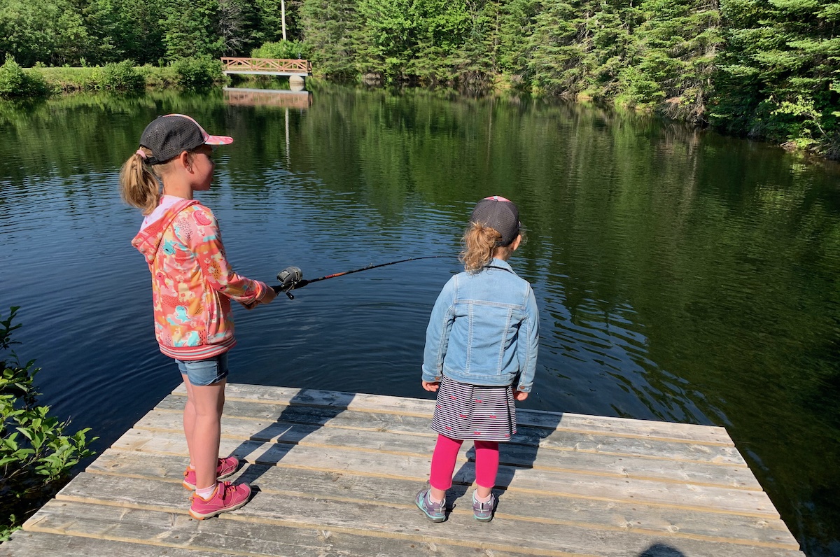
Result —
<path fill-rule="evenodd" d="M 108 449 L 88 467 L 95 474 L 133 477 L 146 480 L 181 483 L 181 471 L 186 457 L 150 455 L 139 459 L 136 453 Z M 309 497 L 333 497 L 372 503 L 404 504 L 410 502 L 422 483 L 416 479 L 399 480 L 376 476 L 320 470 L 300 470 L 281 466 L 250 465 L 237 476 L 259 486 L 260 491 Z M 93 480 L 91 480 L 93 481 Z M 64 493 L 83 494 L 90 486 L 74 482 Z M 639 533 L 687 535 L 698 539 L 740 539 L 763 544 L 779 544 L 795 549 L 795 539 L 779 520 L 684 511 L 680 509 L 648 507 L 636 503 L 602 502 L 553 494 L 528 493 L 516 490 L 497 490 L 503 516 L 527 518 L 546 523 L 575 523 L 589 528 L 621 528 Z M 469 514 L 467 487 L 456 485 L 449 490 L 449 500 L 456 503 L 453 512 Z M 563 509 L 559 517 L 557 509 Z M 500 515 L 502 516 L 502 515 Z"/>

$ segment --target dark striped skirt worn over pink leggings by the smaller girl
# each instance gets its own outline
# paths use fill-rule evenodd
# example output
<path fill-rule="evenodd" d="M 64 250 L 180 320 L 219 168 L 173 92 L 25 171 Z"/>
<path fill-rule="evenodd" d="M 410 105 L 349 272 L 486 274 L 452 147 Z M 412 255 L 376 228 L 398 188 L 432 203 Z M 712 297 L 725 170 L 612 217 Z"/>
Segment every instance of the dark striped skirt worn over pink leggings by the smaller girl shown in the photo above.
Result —
<path fill-rule="evenodd" d="M 444 376 L 432 429 L 449 439 L 509 441 L 517 433 L 513 387 L 469 385 Z"/>

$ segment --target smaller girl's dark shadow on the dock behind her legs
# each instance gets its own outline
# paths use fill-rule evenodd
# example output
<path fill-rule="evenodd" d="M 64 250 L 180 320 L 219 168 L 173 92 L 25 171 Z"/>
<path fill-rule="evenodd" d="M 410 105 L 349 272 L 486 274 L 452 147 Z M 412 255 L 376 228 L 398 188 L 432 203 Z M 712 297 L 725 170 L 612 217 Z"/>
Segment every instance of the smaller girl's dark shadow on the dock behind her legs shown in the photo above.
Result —
<path fill-rule="evenodd" d="M 513 478 L 522 470 L 533 468 L 540 444 L 554 434 L 562 418 L 562 412 L 517 409 L 517 433 L 510 441 L 499 443 L 499 472 L 493 492 L 500 506 Z M 475 446 L 467 450 L 466 456 L 469 461 L 455 472 L 452 487 L 447 491 L 447 499 L 453 502 L 463 497 L 475 482 Z"/>

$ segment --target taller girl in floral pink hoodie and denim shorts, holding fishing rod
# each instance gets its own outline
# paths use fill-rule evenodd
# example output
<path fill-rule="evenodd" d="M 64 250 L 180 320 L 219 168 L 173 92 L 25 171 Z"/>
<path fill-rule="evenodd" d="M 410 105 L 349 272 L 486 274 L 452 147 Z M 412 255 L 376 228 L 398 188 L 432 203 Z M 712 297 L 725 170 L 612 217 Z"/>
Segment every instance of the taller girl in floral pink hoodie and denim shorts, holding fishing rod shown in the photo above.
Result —
<path fill-rule="evenodd" d="M 146 127 L 120 172 L 123 199 L 145 215 L 131 244 L 151 271 L 155 336 L 186 386 L 183 485 L 195 490 L 190 514 L 199 520 L 242 507 L 251 493 L 248 484 L 218 481 L 239 467 L 235 456 L 218 458 L 228 350 L 236 344 L 230 301 L 251 309 L 276 296 L 230 268 L 213 212 L 192 198 L 210 189 L 214 146 L 232 142 L 168 114 Z"/>

